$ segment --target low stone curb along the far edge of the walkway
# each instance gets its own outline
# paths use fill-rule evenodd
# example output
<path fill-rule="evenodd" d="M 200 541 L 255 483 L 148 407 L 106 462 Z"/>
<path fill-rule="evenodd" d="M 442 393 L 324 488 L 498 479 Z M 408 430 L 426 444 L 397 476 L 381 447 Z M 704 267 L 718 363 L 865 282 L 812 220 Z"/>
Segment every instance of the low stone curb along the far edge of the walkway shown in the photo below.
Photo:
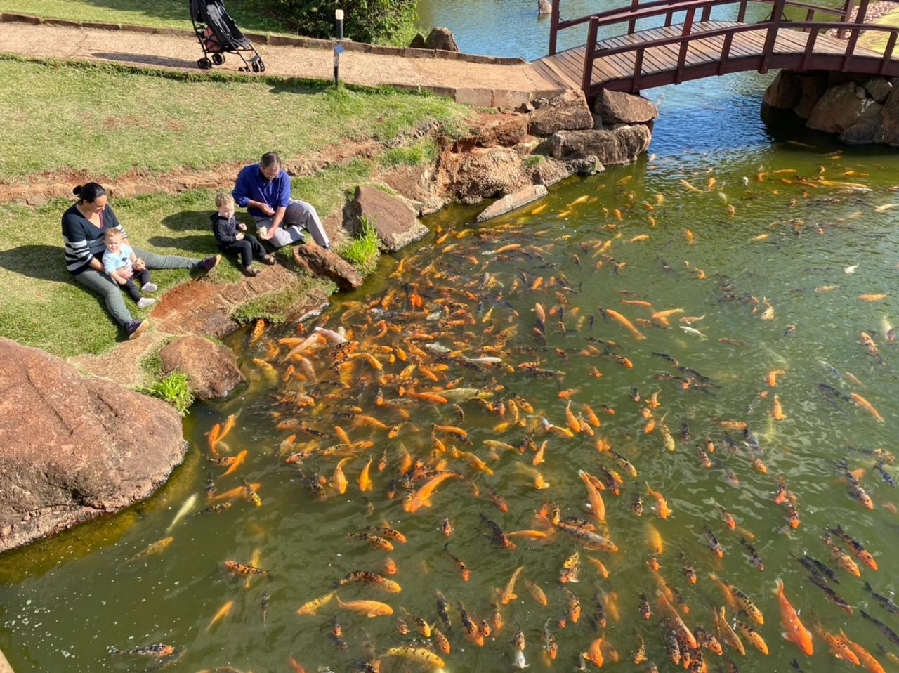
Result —
<path fill-rule="evenodd" d="M 70 21 L 68 19 L 42 19 L 36 14 L 19 12 L 0 13 L 0 22 L 30 23 L 65 28 L 93 28 L 101 31 L 132 31 L 146 32 L 160 35 L 183 35 L 194 37 L 193 31 L 182 28 L 154 28 L 152 26 L 138 26 L 129 23 L 101 23 L 93 21 Z M 334 49 L 338 40 L 318 40 L 316 38 L 292 37 L 289 35 L 271 35 L 262 32 L 245 32 L 244 35 L 257 44 L 270 44 L 276 47 L 301 47 L 306 49 Z M 524 58 L 503 58 L 497 56 L 480 56 L 478 54 L 462 54 L 458 51 L 444 51 L 442 49 L 413 49 L 411 47 L 386 47 L 367 42 L 353 42 L 340 40 L 343 49 L 347 51 L 360 51 L 365 54 L 378 54 L 380 56 L 401 56 L 405 58 L 444 58 L 447 60 L 461 60 L 467 63 L 488 63 L 496 66 L 521 66 L 527 61 Z M 0 671 L 2 673 L 2 671 Z"/>

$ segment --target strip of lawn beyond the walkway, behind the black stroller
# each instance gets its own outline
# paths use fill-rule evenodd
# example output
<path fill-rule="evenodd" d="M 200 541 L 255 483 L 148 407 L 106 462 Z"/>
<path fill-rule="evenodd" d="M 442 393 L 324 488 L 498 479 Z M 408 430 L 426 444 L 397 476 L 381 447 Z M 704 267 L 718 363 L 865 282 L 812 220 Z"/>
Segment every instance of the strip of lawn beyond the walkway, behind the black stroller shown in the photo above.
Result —
<path fill-rule="evenodd" d="M 227 0 L 225 8 L 237 25 L 247 31 L 284 30 L 279 22 L 255 12 L 252 2 Z M 0 0 L 0 11 L 72 21 L 192 28 L 188 0 Z"/>

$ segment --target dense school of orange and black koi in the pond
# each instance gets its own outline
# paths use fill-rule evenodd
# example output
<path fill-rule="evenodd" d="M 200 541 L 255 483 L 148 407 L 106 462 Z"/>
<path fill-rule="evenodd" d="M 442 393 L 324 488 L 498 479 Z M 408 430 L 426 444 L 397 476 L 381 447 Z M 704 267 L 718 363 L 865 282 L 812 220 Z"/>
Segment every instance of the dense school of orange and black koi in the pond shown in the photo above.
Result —
<path fill-rule="evenodd" d="M 691 180 L 681 181 L 684 189 L 699 192 Z M 828 198 L 861 186 L 788 171 L 760 172 L 754 182 L 772 180 L 798 193 L 829 188 Z M 714 190 L 715 178 L 703 187 Z M 663 226 L 665 198 L 625 199 L 622 212 L 585 195 L 558 218 L 541 204 L 527 220 L 441 231 L 437 254 L 402 258 L 386 292 L 369 301 L 343 301 L 290 333 L 256 323 L 245 354 L 255 384 L 269 390 L 260 413 L 278 441 L 254 457 L 252 446 L 228 445 L 239 413 L 212 426 L 203 447 L 212 466 L 206 502 L 186 502 L 169 530 L 188 515 L 265 507 L 265 481 L 240 476 L 250 460 L 277 466 L 270 473 L 295 484 L 305 503 L 350 498 L 359 508 L 355 525 L 332 533 L 353 550 L 352 562 L 333 562 L 333 584 L 291 583 L 295 605 L 283 609 L 296 613 L 295 629 L 326 635 L 317 651 L 286 654 L 285 670 L 814 671 L 822 652 L 840 668 L 899 667 L 899 606 L 890 580 L 878 578 L 880 541 L 857 516 L 875 507 L 896 514 L 887 499 L 895 456 L 835 444 L 814 489 L 792 483 L 798 449 L 781 443 L 778 427 L 807 405 L 784 386 L 791 363 L 780 358 L 757 381 L 735 381 L 724 365 L 706 371 L 708 358 L 693 362 L 690 353 L 717 340 L 742 356 L 743 332 L 704 327 L 720 307 L 765 321 L 772 341 L 812 326 L 779 325 L 776 301 L 690 262 L 661 260 L 659 283 L 695 284 L 682 305 L 655 305 L 650 284 L 627 267 L 632 244 L 654 235 L 656 218 Z M 577 208 L 605 211 L 599 236 L 574 239 L 558 228 Z M 636 217 L 649 233 L 625 233 Z M 786 240 L 798 227 L 791 221 L 752 241 Z M 683 238 L 696 236 L 683 229 Z M 574 262 L 567 274 L 560 256 Z M 599 306 L 584 300 L 590 283 L 607 288 Z M 885 298 L 872 292 L 859 301 Z M 845 349 L 886 367 L 894 328 L 884 319 L 856 332 Z M 825 360 L 814 367 L 830 382 L 803 394 L 829 413 L 892 422 L 858 392 L 859 376 Z M 626 386 L 613 383 L 623 377 Z M 707 400 L 725 395 L 739 400 L 734 412 L 707 415 Z M 666 497 L 664 485 L 690 482 L 700 498 Z M 840 518 L 807 530 L 806 488 L 824 489 Z M 750 493 L 763 494 L 753 509 Z M 307 525 L 319 524 L 310 515 Z M 429 552 L 412 558 L 407 536 L 426 536 Z M 164 552 L 173 539 L 131 561 Z M 263 624 L 280 579 L 264 559 L 257 550 L 221 560 L 221 573 L 257 592 Z M 760 579 L 751 587 L 731 579 L 738 567 L 740 577 L 748 568 Z M 416 586 L 408 597 L 406 578 Z M 229 598 L 207 630 L 234 606 Z M 787 659 L 766 662 L 779 639 L 790 644 Z M 471 659 L 480 652 L 490 658 Z M 178 651 L 160 643 L 126 654 L 171 660 Z"/>

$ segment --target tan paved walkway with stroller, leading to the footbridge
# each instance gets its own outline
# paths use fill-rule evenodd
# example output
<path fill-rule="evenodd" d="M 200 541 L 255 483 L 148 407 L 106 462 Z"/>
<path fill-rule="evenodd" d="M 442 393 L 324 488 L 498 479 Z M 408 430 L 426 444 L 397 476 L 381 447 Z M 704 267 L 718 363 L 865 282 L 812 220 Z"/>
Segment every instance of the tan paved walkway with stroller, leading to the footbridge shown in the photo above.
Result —
<path fill-rule="evenodd" d="M 265 74 L 329 80 L 334 77 L 330 49 L 255 44 Z M 0 52 L 41 58 L 116 61 L 140 66 L 199 72 L 200 45 L 192 35 L 147 34 L 95 28 L 61 27 L 19 22 L 0 23 Z M 221 71 L 243 65 L 226 55 Z M 358 85 L 422 87 L 459 103 L 513 107 L 539 95 L 560 91 L 557 82 L 539 75 L 529 63 L 501 65 L 447 58 L 408 58 L 346 51 L 341 80 Z"/>

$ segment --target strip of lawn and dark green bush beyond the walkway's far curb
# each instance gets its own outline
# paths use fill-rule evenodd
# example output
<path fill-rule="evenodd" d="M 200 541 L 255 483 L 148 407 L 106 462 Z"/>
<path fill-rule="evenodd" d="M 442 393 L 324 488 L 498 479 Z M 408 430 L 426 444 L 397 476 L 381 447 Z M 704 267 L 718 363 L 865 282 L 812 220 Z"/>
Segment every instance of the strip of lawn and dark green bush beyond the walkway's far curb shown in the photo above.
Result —
<path fill-rule="evenodd" d="M 342 6 L 346 12 L 345 34 L 352 40 L 405 46 L 414 35 L 415 0 L 348 0 Z M 244 31 L 337 36 L 332 3 L 228 0 L 226 10 Z M 192 30 L 187 0 L 0 0 L 0 11 L 37 14 L 45 19 Z"/>

